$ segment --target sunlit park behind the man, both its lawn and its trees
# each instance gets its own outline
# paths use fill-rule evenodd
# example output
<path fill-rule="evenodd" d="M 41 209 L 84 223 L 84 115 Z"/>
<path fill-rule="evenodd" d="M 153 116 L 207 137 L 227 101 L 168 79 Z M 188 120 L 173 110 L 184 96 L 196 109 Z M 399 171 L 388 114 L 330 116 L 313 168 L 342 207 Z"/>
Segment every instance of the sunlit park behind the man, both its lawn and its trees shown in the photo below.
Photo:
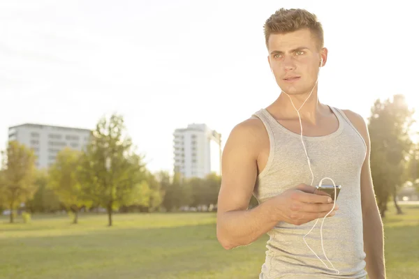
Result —
<path fill-rule="evenodd" d="M 418 188 L 419 148 L 402 129 L 410 115 L 402 96 L 377 101 L 368 127 L 392 279 L 419 273 L 419 204 L 404 202 L 403 194 L 406 186 Z M 149 172 L 122 133 L 122 116 L 103 118 L 86 151 L 63 149 L 46 171 L 34 168 L 27 146 L 8 144 L 0 172 L 0 279 L 258 278 L 266 235 L 232 250 L 216 238 L 222 176 Z M 391 147 L 382 149 L 383 140 Z M 257 204 L 253 197 L 249 208 Z"/>

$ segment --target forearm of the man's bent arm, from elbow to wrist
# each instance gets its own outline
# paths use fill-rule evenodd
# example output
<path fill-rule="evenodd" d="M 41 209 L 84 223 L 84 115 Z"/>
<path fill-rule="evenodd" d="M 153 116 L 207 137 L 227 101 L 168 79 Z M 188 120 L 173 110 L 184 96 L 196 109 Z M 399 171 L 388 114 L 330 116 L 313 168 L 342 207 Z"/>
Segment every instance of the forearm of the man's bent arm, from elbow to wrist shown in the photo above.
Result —
<path fill-rule="evenodd" d="M 216 234 L 226 249 L 245 246 L 266 234 L 278 220 L 274 220 L 269 202 L 259 204 L 253 209 L 220 213 Z"/>

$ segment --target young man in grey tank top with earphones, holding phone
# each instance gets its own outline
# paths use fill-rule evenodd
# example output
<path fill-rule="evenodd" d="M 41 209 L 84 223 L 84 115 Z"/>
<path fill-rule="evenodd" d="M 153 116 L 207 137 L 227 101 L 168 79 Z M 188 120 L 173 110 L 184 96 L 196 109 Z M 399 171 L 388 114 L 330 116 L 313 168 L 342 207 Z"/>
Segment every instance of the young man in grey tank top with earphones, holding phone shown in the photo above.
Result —
<path fill-rule="evenodd" d="M 367 126 L 360 115 L 318 101 L 318 71 L 328 60 L 321 23 L 306 10 L 280 9 L 265 23 L 265 40 L 281 93 L 228 137 L 219 242 L 231 249 L 269 234 L 260 279 L 385 278 Z M 333 211 L 315 188 L 324 177 L 341 185 Z M 248 209 L 251 195 L 259 205 Z M 320 223 L 307 235 L 325 216 L 323 241 Z"/>

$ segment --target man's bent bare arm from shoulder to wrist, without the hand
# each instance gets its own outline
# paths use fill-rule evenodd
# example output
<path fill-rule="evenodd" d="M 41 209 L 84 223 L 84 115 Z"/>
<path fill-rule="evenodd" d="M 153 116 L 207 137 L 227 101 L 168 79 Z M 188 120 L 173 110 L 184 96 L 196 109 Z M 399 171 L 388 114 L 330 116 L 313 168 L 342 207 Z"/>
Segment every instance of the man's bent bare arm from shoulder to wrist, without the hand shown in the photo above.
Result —
<path fill-rule="evenodd" d="M 277 224 L 266 204 L 247 210 L 258 172 L 256 121 L 237 125 L 223 149 L 216 234 L 226 249 L 252 243 Z"/>

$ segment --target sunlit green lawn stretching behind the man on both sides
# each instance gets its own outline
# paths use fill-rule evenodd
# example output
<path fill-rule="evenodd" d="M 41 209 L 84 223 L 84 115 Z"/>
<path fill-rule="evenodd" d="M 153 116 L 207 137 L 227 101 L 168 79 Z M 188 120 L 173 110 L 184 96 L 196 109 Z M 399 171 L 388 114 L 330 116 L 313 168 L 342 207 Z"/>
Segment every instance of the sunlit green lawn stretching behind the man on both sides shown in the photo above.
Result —
<path fill-rule="evenodd" d="M 385 218 L 388 278 L 418 278 L 419 206 L 403 206 Z M 263 237 L 250 246 L 223 250 L 214 213 L 33 216 L 31 223 L 0 218 L 1 279 L 258 278 Z"/>

